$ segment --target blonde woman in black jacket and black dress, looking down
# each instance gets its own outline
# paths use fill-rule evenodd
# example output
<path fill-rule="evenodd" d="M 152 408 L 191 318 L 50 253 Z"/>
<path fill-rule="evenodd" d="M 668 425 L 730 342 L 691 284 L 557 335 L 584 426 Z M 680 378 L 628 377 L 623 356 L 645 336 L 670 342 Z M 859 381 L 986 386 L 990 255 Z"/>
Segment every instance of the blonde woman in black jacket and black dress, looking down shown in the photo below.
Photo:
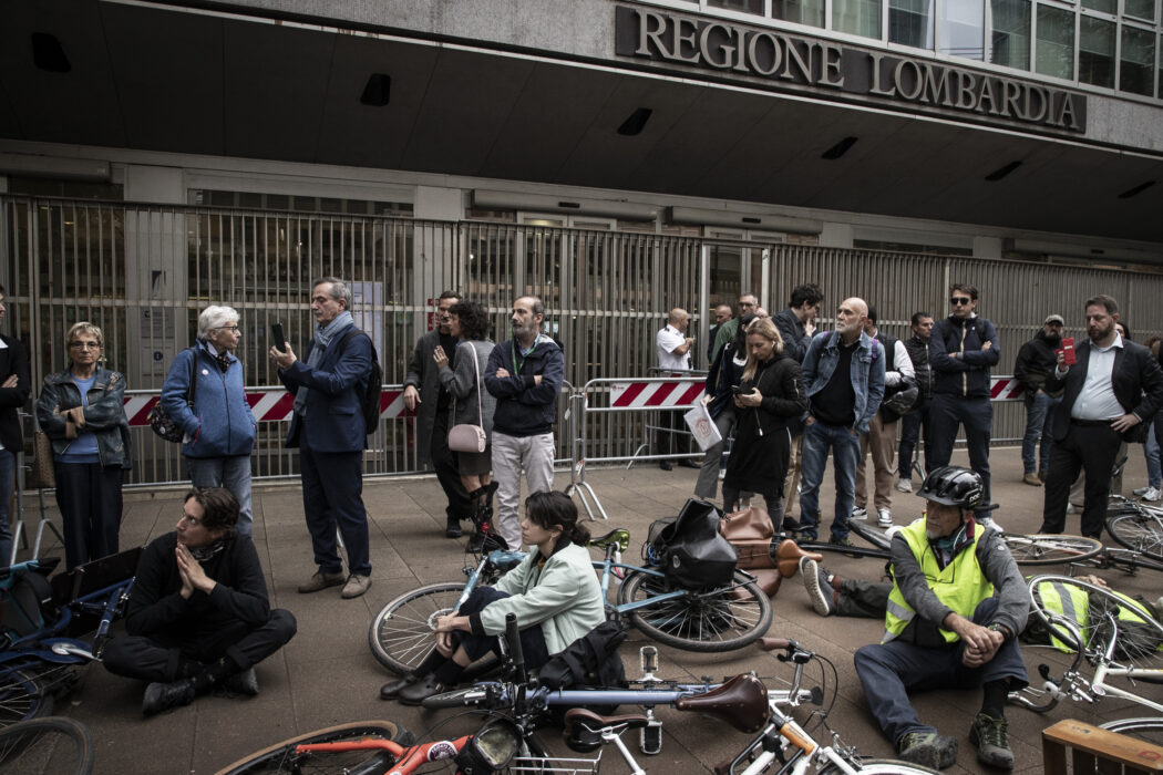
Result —
<path fill-rule="evenodd" d="M 804 414 L 807 399 L 799 364 L 784 354 L 784 343 L 769 317 L 747 329 L 747 366 L 734 397 L 735 445 L 727 459 L 723 508 L 739 508 L 739 494 L 762 495 L 772 529 L 783 526 L 780 498 L 791 454 L 791 422 Z"/>

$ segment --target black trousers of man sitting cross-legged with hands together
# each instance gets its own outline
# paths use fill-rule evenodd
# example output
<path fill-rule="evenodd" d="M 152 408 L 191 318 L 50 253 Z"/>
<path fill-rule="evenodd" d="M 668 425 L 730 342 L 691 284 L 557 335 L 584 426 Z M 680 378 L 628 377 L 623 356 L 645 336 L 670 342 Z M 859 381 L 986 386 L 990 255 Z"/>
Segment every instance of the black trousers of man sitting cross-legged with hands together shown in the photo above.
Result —
<path fill-rule="evenodd" d="M 281 648 L 297 629 L 291 611 L 277 608 L 257 626 L 234 620 L 191 634 L 112 638 L 101 661 L 114 675 L 164 683 L 186 677 L 191 662 L 207 665 L 226 658 L 242 672 Z"/>

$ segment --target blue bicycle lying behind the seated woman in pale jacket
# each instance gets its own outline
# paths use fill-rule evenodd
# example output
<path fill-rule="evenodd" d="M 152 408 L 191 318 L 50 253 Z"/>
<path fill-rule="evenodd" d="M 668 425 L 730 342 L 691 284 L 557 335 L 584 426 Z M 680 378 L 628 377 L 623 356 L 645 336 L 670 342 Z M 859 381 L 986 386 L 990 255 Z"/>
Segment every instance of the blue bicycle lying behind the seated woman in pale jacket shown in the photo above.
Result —
<path fill-rule="evenodd" d="M 625 618 L 648 637 L 694 652 L 726 652 L 754 643 L 771 626 L 771 601 L 755 576 L 736 571 L 729 584 L 713 589 L 671 588 L 659 568 L 622 562 L 629 545 L 626 530 L 614 530 L 590 540 L 604 552 L 593 566 L 601 576 L 607 618 Z M 521 552 L 494 551 L 477 566 L 464 567 L 465 583 L 427 584 L 390 601 L 372 619 L 368 641 L 376 659 L 404 674 L 416 667 L 436 646 L 437 617 L 451 613 L 481 583 L 495 581 L 525 557 Z M 618 584 L 616 603 L 609 602 Z M 497 666 L 494 656 L 471 665 L 466 680 Z"/>

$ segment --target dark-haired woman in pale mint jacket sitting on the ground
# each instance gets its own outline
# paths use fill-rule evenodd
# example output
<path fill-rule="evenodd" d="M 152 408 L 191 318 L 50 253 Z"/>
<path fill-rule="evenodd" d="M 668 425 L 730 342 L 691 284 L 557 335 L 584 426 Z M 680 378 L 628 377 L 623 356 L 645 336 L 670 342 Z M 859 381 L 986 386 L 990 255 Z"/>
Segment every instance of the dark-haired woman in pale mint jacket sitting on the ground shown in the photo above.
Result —
<path fill-rule="evenodd" d="M 419 705 L 456 683 L 469 665 L 499 650 L 505 616 L 515 613 L 521 651 L 529 669 L 605 622 L 601 587 L 578 524 L 578 510 L 564 493 L 534 493 L 525 502 L 521 544 L 533 551 L 493 587 L 477 587 L 449 616 L 436 619 L 436 650 L 414 673 L 385 684 L 381 699 Z"/>

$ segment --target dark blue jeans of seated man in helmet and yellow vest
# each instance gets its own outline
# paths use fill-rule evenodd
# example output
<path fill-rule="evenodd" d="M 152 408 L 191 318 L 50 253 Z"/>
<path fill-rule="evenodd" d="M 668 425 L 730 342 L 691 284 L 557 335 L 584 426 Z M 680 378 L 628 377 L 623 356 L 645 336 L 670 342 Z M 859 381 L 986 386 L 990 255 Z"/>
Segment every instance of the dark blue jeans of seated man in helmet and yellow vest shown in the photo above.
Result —
<path fill-rule="evenodd" d="M 998 609 L 994 597 L 982 601 L 973 611 L 976 624 L 993 619 Z M 993 659 L 980 667 L 965 667 L 962 661 L 964 645 L 958 641 L 948 648 L 926 648 L 900 640 L 864 646 L 856 652 L 856 675 L 864 687 L 864 698 L 872 716 L 880 724 L 892 744 L 909 732 L 936 732 L 920 717 L 908 702 L 913 691 L 944 688 L 972 688 L 989 681 L 1008 679 L 1013 690 L 1025 687 L 1029 679 L 1026 662 L 1013 637 L 1003 644 Z"/>

